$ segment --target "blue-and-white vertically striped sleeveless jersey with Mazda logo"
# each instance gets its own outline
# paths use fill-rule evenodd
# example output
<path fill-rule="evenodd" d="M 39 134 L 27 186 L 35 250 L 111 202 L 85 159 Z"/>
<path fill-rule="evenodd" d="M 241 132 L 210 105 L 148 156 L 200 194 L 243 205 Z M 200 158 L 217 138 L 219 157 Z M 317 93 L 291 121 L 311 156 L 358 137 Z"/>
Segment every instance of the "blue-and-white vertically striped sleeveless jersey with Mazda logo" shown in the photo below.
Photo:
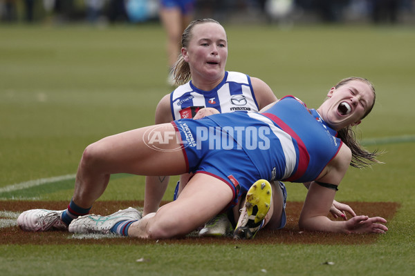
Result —
<path fill-rule="evenodd" d="M 216 108 L 221 113 L 258 112 L 250 77 L 240 72 L 225 72 L 216 88 L 203 91 L 189 81 L 170 95 L 173 119 L 191 119 L 201 108 Z"/>

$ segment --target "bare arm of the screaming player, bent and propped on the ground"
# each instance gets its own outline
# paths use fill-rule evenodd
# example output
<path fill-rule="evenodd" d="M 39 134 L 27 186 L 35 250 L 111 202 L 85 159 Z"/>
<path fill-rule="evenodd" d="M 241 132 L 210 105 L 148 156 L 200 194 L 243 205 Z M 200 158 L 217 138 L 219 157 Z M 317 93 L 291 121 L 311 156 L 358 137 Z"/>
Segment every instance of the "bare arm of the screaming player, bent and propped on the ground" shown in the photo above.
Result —
<path fill-rule="evenodd" d="M 320 175 L 318 181 L 338 185 L 349 167 L 351 152 L 342 145 L 338 155 L 329 163 Z M 386 220 L 382 217 L 357 216 L 348 221 L 331 221 L 327 217 L 335 190 L 322 187 L 312 181 L 308 189 L 302 213 L 299 217 L 299 227 L 304 230 L 315 230 L 334 233 L 385 233 Z"/>

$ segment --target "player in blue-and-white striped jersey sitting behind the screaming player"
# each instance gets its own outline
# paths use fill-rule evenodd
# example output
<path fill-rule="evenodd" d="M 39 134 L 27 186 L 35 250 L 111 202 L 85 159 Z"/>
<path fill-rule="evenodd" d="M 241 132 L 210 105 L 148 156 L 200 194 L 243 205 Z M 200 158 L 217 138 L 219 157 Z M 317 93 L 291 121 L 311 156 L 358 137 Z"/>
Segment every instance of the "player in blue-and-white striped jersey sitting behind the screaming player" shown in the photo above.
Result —
<path fill-rule="evenodd" d="M 174 67 L 179 86 L 158 103 L 156 124 L 191 119 L 201 108 L 215 108 L 221 113 L 258 112 L 277 100 L 270 87 L 261 79 L 225 70 L 228 37 L 219 22 L 213 19 L 192 21 L 183 32 L 181 45 L 181 55 Z M 181 176 L 175 197 L 189 177 L 189 174 Z M 158 210 L 168 183 L 169 176 L 146 177 L 143 215 Z M 285 190 L 281 193 L 279 190 L 277 196 L 283 197 Z M 221 221 L 229 224 L 223 215 Z M 224 231 L 225 228 L 228 227 L 220 226 L 218 229 Z M 214 229 L 213 232 L 217 235 L 218 230 Z M 209 231 L 204 233 L 209 235 Z"/>

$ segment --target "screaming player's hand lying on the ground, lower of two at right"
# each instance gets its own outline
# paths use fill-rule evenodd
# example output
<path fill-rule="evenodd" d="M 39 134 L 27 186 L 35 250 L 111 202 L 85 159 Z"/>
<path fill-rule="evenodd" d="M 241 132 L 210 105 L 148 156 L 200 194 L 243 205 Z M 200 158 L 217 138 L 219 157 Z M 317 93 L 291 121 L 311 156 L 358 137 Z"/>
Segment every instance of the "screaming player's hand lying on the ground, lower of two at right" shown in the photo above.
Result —
<path fill-rule="evenodd" d="M 385 233 L 388 229 L 383 217 L 368 217 L 360 215 L 346 222 L 347 233 Z"/>

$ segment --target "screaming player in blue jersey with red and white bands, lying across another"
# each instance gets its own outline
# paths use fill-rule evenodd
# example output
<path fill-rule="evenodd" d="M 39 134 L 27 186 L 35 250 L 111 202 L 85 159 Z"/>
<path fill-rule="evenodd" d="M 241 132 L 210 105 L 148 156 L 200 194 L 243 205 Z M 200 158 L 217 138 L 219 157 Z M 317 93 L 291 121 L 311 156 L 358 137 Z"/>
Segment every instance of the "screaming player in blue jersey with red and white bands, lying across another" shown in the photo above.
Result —
<path fill-rule="evenodd" d="M 378 162 L 376 152 L 368 152 L 350 139 L 351 127 L 360 124 L 375 99 L 369 81 L 349 78 L 331 88 L 328 99 L 316 110 L 285 97 L 259 114 L 232 112 L 199 120 L 179 119 L 101 139 L 84 150 L 68 210 L 89 210 L 114 173 L 194 172 L 194 177 L 176 201 L 156 213 L 141 218 L 129 208 L 104 217 L 86 215 L 72 219 L 68 230 L 113 231 L 147 239 L 180 237 L 237 203 L 238 186 L 247 190 L 263 178 L 311 182 L 299 217 L 301 229 L 385 233 L 387 221 L 382 217 L 358 215 L 347 221 L 327 217 L 349 166 Z M 66 224 L 65 214 L 66 210 L 28 210 L 17 222 L 24 230 L 48 230 Z"/>

